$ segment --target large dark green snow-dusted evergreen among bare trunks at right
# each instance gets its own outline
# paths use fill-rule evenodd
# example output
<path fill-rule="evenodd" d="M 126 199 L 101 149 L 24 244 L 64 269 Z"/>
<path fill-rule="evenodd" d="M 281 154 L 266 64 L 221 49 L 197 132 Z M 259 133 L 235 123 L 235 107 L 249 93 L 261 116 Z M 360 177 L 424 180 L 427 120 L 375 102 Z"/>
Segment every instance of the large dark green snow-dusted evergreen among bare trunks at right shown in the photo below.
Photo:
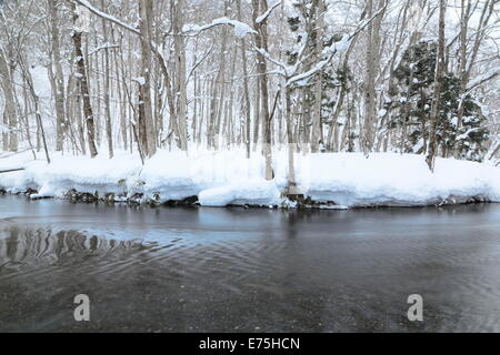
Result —
<path fill-rule="evenodd" d="M 400 148 L 407 153 L 423 153 L 429 139 L 429 115 L 437 58 L 437 43 L 421 41 L 410 47 L 394 70 L 394 85 L 390 88 L 391 101 L 386 104 L 392 114 L 389 129 L 402 128 Z M 451 72 L 443 78 L 437 143 L 442 156 L 459 149 L 460 158 L 479 161 L 489 139 L 486 118 L 471 94 L 463 98 L 464 119 L 458 128 L 460 79 Z M 406 133 L 404 133 L 406 132 Z M 454 145 L 457 143 L 457 145 Z"/>

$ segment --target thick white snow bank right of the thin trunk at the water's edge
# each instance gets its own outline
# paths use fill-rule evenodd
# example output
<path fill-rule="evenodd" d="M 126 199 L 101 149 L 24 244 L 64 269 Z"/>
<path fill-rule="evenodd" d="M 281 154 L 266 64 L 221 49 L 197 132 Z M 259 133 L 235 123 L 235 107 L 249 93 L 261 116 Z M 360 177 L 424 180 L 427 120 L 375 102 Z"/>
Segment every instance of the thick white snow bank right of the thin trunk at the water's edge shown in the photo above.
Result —
<path fill-rule="evenodd" d="M 347 206 L 432 205 L 483 197 L 500 202 L 500 169 L 437 159 L 432 174 L 422 155 L 312 154 L 303 190 L 316 201 Z M 302 172 L 303 173 L 303 172 Z"/>

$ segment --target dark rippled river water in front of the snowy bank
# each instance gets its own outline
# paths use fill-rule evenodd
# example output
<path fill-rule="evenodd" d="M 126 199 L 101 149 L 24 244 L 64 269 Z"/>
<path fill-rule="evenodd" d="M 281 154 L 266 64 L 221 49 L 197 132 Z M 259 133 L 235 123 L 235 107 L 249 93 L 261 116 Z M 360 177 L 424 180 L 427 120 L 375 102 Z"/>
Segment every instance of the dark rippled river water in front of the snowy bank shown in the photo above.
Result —
<path fill-rule="evenodd" d="M 76 322 L 74 296 L 90 298 Z M 410 322 L 410 294 L 423 321 Z M 500 204 L 279 211 L 0 196 L 1 332 L 500 332 Z"/>

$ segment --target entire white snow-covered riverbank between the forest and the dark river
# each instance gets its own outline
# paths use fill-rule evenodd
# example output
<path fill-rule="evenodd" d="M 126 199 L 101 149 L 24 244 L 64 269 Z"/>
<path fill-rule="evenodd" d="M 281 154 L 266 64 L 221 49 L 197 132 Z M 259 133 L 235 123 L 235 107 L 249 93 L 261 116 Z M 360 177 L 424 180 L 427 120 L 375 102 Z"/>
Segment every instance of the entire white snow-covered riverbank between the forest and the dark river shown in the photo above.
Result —
<path fill-rule="evenodd" d="M 273 156 L 274 180 L 263 180 L 264 162 L 243 151 L 160 151 L 144 166 L 138 155 L 121 152 L 109 160 L 52 154 L 49 165 L 30 152 L 0 158 L 0 187 L 32 197 L 62 197 L 69 191 L 107 200 L 178 201 L 198 196 L 204 206 L 293 205 L 282 199 L 287 184 L 286 152 Z M 424 158 L 412 154 L 318 153 L 296 156 L 300 191 L 331 207 L 436 205 L 473 200 L 500 202 L 500 169 L 452 159 L 438 159 L 429 172 Z"/>

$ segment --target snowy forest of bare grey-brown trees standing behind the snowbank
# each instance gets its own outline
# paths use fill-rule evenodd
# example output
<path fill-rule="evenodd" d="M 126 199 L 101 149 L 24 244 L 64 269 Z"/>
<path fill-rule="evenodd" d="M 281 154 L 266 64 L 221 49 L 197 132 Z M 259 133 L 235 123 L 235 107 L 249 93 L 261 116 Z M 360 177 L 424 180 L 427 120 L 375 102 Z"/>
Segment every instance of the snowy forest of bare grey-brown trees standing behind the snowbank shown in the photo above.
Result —
<path fill-rule="evenodd" d="M 238 151 L 287 189 L 309 154 L 498 164 L 498 0 L 0 3 L 8 158 Z"/>

